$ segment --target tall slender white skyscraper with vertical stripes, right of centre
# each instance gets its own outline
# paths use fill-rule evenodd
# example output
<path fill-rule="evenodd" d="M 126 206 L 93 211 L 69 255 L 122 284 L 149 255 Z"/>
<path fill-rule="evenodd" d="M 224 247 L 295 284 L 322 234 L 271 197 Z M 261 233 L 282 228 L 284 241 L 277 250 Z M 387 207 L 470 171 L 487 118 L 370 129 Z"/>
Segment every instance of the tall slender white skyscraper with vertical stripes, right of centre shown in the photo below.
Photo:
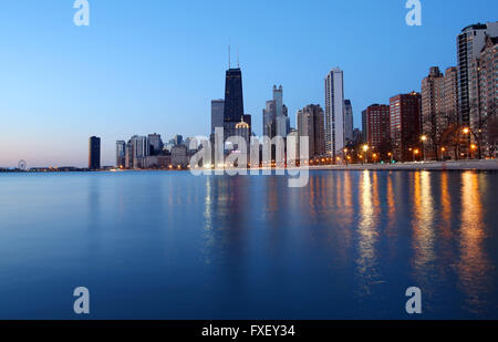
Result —
<path fill-rule="evenodd" d="M 342 70 L 336 68 L 325 77 L 325 149 L 334 160 L 344 141 L 344 81 Z"/>

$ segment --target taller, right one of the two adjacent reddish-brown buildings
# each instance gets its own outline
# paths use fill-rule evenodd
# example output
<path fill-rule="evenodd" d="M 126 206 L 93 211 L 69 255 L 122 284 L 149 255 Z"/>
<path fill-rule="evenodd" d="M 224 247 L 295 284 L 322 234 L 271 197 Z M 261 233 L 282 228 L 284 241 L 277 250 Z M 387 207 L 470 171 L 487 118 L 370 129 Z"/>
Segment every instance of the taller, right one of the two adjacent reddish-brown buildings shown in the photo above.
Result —
<path fill-rule="evenodd" d="M 413 160 L 413 151 L 421 146 L 421 102 L 417 92 L 390 99 L 390 131 L 396 160 Z"/>

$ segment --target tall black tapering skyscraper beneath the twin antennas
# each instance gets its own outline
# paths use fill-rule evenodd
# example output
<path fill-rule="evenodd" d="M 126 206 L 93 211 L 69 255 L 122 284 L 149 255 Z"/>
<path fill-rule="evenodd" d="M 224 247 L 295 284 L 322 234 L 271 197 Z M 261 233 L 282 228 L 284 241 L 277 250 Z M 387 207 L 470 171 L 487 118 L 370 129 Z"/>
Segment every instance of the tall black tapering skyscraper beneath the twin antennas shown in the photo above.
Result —
<path fill-rule="evenodd" d="M 225 136 L 235 134 L 235 126 L 243 115 L 242 72 L 240 68 L 227 70 L 225 82 Z"/>

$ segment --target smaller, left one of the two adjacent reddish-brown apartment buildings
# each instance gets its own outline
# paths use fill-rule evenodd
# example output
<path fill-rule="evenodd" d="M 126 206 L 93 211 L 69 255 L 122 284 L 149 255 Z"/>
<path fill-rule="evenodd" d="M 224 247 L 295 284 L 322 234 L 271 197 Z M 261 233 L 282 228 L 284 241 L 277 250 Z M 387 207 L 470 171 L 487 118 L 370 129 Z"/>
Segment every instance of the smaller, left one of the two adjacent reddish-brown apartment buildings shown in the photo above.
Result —
<path fill-rule="evenodd" d="M 366 143 L 374 149 L 388 142 L 390 134 L 390 106 L 386 104 L 372 104 L 366 108 Z"/>

